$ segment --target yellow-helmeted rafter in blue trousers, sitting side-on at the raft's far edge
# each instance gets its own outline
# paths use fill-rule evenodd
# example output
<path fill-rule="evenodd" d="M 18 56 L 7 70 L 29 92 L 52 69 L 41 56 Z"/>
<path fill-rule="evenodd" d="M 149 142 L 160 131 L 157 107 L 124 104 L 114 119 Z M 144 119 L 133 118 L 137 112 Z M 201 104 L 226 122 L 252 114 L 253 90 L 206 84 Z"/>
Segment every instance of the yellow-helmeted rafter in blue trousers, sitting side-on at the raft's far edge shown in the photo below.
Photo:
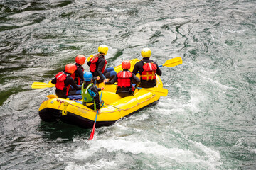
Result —
<path fill-rule="evenodd" d="M 98 47 L 98 54 L 94 55 L 90 58 L 90 61 L 87 62 L 87 65 L 90 66 L 90 72 L 93 77 L 100 76 L 100 80 L 97 82 L 100 83 L 102 81 L 109 81 L 112 79 L 117 72 L 114 71 L 113 67 L 106 68 L 107 60 L 105 60 L 105 55 L 107 55 L 108 47 L 106 45 L 100 45 Z"/>

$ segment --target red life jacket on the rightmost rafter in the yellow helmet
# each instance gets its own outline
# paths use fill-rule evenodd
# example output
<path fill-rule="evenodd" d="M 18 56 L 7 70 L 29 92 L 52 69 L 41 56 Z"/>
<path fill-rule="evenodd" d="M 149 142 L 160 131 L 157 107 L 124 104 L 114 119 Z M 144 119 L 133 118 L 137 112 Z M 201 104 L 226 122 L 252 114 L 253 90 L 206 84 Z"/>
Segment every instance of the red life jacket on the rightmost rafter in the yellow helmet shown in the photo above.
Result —
<path fill-rule="evenodd" d="M 142 79 L 143 80 L 154 80 L 156 79 L 156 69 L 157 66 L 154 64 L 154 62 L 143 62 L 143 69 L 144 71 L 142 72 Z"/>

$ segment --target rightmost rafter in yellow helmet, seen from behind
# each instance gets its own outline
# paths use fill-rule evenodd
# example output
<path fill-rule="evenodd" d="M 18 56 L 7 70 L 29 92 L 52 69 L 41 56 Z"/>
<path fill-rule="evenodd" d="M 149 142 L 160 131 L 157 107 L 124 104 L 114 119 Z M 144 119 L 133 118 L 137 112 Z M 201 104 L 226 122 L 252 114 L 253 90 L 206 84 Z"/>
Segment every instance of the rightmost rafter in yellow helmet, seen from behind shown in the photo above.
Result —
<path fill-rule="evenodd" d="M 149 48 L 142 49 L 143 59 L 134 65 L 132 71 L 133 74 L 139 72 L 140 75 L 140 87 L 150 88 L 156 86 L 156 74 L 161 76 L 161 70 L 159 66 L 153 60 L 150 60 L 151 50 Z"/>

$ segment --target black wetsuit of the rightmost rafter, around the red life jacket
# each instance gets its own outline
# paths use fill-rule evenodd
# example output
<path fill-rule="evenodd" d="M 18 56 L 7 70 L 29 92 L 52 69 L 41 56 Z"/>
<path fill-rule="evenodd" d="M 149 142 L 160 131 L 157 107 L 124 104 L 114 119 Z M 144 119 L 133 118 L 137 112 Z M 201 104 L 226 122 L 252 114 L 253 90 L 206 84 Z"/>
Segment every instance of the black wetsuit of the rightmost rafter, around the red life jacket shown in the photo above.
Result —
<path fill-rule="evenodd" d="M 154 62 L 153 60 L 149 60 L 149 57 L 144 57 L 144 58 L 142 59 L 142 61 L 143 61 L 143 62 L 146 62 L 146 63 L 148 63 L 148 62 Z M 142 61 L 139 61 L 139 62 L 137 62 L 137 63 L 135 64 L 134 69 L 133 69 L 133 71 L 132 71 L 133 74 L 136 75 L 136 74 L 139 72 L 139 74 L 142 75 L 142 72 L 144 71 L 144 69 L 143 69 L 144 63 L 143 63 Z M 154 62 L 154 64 L 156 64 L 156 62 Z M 161 76 L 161 70 L 159 69 L 159 67 L 158 67 L 157 64 L 156 64 L 156 67 L 157 67 L 157 69 L 156 69 L 156 74 L 159 75 L 159 76 Z M 141 83 L 140 83 L 139 86 L 140 86 L 140 87 L 143 87 L 143 88 L 154 87 L 154 86 L 156 86 L 156 79 L 154 79 L 154 80 L 142 80 L 142 78 L 141 78 Z"/>

